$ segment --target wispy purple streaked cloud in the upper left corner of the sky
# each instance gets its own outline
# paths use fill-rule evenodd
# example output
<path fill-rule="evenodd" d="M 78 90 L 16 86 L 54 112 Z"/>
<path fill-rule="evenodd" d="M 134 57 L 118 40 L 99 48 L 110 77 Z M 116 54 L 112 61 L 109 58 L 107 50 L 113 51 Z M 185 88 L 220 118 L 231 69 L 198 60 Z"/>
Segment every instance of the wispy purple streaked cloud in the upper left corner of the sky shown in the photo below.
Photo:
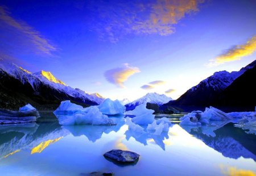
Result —
<path fill-rule="evenodd" d="M 14 19 L 8 8 L 0 6 L 0 53 L 34 53 L 51 56 L 57 49 L 40 32 L 22 20 Z"/>

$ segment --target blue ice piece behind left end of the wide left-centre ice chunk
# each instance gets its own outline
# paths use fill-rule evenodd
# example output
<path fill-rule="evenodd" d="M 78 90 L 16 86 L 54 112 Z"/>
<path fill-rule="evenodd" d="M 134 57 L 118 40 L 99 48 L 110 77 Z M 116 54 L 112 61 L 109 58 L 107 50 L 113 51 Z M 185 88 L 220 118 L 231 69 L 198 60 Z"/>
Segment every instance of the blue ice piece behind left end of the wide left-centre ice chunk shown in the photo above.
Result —
<path fill-rule="evenodd" d="M 60 106 L 53 112 L 54 114 L 73 114 L 81 111 L 82 106 L 73 104 L 70 100 L 61 101 Z"/>

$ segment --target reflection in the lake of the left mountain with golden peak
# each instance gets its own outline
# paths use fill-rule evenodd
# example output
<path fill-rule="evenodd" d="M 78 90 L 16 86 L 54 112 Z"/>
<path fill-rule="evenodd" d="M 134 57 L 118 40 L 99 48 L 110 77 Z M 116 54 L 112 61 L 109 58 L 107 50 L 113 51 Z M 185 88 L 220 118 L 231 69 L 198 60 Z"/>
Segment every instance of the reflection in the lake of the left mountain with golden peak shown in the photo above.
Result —
<path fill-rule="evenodd" d="M 22 149 L 42 152 L 56 139 L 68 134 L 58 123 L 25 123 L 0 126 L 0 159 Z"/>

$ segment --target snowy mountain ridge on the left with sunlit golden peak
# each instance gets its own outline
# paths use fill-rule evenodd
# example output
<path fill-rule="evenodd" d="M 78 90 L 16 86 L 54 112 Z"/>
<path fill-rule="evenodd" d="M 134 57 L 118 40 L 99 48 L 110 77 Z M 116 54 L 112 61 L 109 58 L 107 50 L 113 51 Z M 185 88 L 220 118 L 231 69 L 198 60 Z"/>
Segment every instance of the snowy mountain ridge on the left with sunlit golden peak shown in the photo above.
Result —
<path fill-rule="evenodd" d="M 98 93 L 89 94 L 69 87 L 56 79 L 51 72 L 40 71 L 32 74 L 15 64 L 0 65 L 0 76 L 1 90 L 8 92 L 15 89 L 14 92 L 23 93 L 36 101 L 72 100 L 82 104 L 99 105 L 105 99 Z"/>

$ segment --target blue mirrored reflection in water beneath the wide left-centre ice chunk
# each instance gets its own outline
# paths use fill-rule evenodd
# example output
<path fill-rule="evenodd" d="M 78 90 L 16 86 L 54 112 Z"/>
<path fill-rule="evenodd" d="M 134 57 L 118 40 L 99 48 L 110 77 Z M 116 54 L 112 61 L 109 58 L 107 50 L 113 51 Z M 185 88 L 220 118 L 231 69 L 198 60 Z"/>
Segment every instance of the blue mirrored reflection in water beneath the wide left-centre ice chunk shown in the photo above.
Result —
<path fill-rule="evenodd" d="M 85 135 L 89 141 L 93 143 L 100 139 L 102 134 L 109 134 L 111 131 L 119 131 L 125 124 L 123 117 L 110 117 L 117 125 L 114 126 L 98 126 L 98 125 L 77 125 L 77 126 L 63 126 L 64 129 L 70 131 L 73 136 Z"/>

